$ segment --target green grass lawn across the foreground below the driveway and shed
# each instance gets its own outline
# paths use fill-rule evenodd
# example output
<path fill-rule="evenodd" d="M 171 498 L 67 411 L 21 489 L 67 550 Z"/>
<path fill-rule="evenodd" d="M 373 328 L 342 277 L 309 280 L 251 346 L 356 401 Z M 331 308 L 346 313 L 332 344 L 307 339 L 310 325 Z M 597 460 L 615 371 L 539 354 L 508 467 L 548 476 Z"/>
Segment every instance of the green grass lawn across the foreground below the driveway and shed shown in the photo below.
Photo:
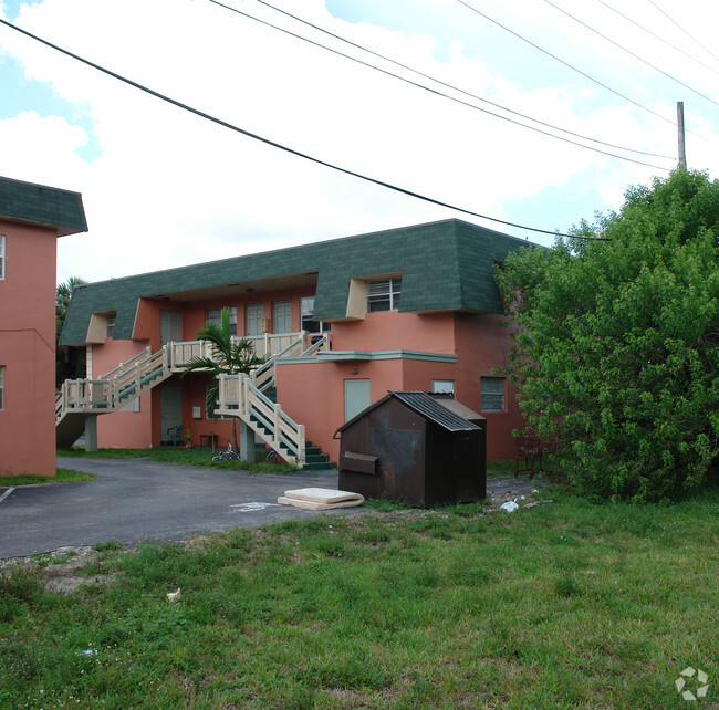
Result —
<path fill-rule="evenodd" d="M 10 567 L 0 707 L 686 708 L 687 666 L 717 707 L 719 491 L 542 498 L 108 543 L 66 595 Z"/>

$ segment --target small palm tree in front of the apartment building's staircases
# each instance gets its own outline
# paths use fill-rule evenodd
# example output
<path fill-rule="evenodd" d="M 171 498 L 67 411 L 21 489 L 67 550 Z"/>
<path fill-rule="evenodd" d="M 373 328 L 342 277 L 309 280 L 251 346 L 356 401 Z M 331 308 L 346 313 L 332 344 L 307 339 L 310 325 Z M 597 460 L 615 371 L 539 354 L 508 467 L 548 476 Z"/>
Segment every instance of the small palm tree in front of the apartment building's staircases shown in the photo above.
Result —
<path fill-rule="evenodd" d="M 192 357 L 187 364 L 181 377 L 187 373 L 202 369 L 215 376 L 215 384 L 207 390 L 207 411 L 215 411 L 219 396 L 218 375 L 239 375 L 249 373 L 262 365 L 264 357 L 254 354 L 254 345 L 248 338 L 232 341 L 230 335 L 230 310 L 222 309 L 222 325 L 208 321 L 205 327 L 196 333 L 198 341 L 210 344 L 210 357 Z M 232 417 L 232 440 L 235 450 L 239 451 L 237 445 L 237 417 Z"/>

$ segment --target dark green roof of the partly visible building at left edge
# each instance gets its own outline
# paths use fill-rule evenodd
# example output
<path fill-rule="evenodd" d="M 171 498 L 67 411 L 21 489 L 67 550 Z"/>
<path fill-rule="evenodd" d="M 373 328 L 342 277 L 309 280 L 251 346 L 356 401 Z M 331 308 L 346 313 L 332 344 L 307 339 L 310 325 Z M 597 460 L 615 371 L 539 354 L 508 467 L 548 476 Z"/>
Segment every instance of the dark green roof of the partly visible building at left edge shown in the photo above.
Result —
<path fill-rule="evenodd" d="M 87 231 L 80 192 L 0 177 L 0 217 L 58 229 L 59 237 Z"/>

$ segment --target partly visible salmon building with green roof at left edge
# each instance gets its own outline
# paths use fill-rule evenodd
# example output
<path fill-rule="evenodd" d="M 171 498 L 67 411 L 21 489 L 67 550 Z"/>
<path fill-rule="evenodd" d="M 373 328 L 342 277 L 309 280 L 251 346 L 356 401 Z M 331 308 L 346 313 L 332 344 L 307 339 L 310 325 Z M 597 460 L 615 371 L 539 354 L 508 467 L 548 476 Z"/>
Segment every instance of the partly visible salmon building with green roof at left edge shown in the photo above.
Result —
<path fill-rule="evenodd" d="M 79 194 L 0 178 L 0 477 L 55 474 L 56 240 L 86 230 Z"/>

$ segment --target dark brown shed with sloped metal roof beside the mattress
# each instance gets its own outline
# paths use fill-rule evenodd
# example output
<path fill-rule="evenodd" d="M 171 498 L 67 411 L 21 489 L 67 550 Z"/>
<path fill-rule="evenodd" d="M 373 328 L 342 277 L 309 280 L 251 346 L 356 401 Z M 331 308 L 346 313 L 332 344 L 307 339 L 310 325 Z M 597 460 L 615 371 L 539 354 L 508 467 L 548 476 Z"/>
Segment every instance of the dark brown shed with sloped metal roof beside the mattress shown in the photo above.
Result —
<path fill-rule="evenodd" d="M 389 391 L 337 435 L 341 490 L 420 508 L 487 494 L 486 427 L 427 393 Z"/>

